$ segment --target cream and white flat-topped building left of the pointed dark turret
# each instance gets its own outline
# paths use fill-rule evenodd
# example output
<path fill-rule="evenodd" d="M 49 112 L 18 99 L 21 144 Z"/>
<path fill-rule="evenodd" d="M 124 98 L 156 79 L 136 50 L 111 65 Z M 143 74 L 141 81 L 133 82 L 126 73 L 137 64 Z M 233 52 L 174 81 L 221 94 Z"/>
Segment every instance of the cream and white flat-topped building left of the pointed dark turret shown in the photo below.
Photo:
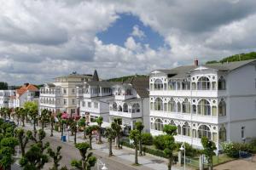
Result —
<path fill-rule="evenodd" d="M 39 112 L 47 109 L 68 114 L 79 114 L 77 108 L 76 87 L 90 81 L 92 75 L 80 75 L 73 72 L 64 77 L 56 77 L 55 82 L 45 83 L 40 88 Z"/>

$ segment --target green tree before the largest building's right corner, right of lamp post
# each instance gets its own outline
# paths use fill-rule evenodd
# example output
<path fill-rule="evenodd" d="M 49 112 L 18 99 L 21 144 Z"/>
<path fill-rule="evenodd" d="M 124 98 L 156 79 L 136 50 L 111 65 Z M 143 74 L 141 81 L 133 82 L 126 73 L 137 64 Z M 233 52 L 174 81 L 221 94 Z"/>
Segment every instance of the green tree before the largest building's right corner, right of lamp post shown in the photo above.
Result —
<path fill-rule="evenodd" d="M 207 157 L 209 169 L 212 170 L 212 156 L 215 156 L 214 150 L 217 150 L 214 142 L 209 140 L 206 136 L 201 138 L 201 144 L 203 146 L 202 153 Z"/>

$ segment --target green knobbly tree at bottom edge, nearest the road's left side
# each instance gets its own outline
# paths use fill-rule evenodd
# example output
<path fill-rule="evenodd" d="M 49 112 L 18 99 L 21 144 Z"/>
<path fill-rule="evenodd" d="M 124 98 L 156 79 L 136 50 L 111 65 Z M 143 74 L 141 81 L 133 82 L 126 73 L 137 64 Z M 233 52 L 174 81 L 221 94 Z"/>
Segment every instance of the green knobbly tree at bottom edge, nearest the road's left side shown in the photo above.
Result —
<path fill-rule="evenodd" d="M 88 143 L 79 143 L 75 145 L 79 149 L 82 159 L 80 161 L 73 160 L 71 165 L 77 167 L 80 170 L 90 170 L 91 167 L 94 167 L 96 164 L 96 157 L 92 156 L 92 152 L 87 154 L 87 150 L 90 148 Z"/>

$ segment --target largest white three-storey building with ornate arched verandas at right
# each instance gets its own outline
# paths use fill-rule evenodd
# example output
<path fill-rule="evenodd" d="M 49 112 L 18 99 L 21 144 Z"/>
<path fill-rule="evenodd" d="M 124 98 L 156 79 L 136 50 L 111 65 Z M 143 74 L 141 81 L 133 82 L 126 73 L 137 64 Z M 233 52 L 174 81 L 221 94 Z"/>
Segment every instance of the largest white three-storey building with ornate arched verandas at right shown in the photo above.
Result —
<path fill-rule="evenodd" d="M 177 126 L 177 141 L 201 147 L 256 137 L 256 60 L 180 66 L 150 74 L 150 132 Z"/>

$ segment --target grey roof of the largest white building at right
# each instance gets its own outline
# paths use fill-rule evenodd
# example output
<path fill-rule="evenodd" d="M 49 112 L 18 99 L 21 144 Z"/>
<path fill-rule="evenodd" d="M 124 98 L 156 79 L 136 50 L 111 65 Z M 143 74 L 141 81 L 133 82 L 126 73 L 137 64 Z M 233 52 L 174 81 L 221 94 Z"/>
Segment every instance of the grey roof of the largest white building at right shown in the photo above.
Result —
<path fill-rule="evenodd" d="M 237 68 L 240 68 L 241 66 L 253 63 L 255 61 L 256 61 L 256 59 L 249 59 L 249 60 L 243 60 L 243 61 L 235 61 L 235 62 L 229 62 L 229 63 L 214 63 L 214 64 L 201 65 L 201 66 L 205 66 L 207 68 L 215 69 L 218 71 L 234 71 Z M 170 69 L 170 70 L 157 70 L 157 71 L 166 73 L 168 75 L 168 77 L 179 79 L 179 78 L 188 77 L 189 72 L 194 71 L 195 68 L 197 68 L 199 66 L 183 65 L 183 66 L 178 66 L 178 67 Z"/>

